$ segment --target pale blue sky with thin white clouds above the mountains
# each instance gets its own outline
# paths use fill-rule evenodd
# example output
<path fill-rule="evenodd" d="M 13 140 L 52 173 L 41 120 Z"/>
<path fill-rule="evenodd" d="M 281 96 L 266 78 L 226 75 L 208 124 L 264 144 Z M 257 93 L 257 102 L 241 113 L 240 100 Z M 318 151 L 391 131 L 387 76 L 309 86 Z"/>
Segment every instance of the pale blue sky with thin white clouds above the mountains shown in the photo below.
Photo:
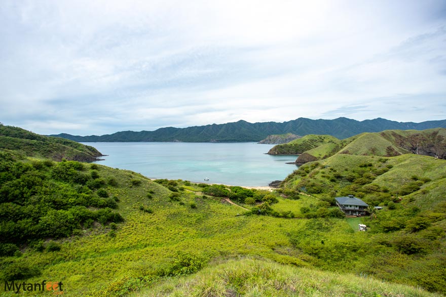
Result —
<path fill-rule="evenodd" d="M 2 0 L 0 122 L 446 119 L 444 0 Z"/>

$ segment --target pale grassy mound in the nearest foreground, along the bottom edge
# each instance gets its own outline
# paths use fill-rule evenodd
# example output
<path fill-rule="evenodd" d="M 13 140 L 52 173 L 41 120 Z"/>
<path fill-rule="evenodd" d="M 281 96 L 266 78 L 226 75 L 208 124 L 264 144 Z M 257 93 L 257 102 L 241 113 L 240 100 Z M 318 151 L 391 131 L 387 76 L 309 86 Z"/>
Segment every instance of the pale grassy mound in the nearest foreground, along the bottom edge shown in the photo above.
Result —
<path fill-rule="evenodd" d="M 305 276 L 305 277 L 303 277 Z M 279 265 L 255 259 L 236 259 L 212 265 L 189 277 L 156 283 L 132 294 L 150 296 L 437 296 L 373 278 Z"/>

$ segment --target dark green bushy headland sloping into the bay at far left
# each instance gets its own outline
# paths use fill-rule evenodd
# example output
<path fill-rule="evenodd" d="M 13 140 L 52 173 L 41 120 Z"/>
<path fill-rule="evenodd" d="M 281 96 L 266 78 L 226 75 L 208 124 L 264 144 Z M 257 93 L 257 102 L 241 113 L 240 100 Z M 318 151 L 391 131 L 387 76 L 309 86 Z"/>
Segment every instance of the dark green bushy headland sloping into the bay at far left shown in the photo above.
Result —
<path fill-rule="evenodd" d="M 21 128 L 0 125 L 0 149 L 20 151 L 33 157 L 49 158 L 60 161 L 95 161 L 102 154 L 92 146 L 75 141 L 48 137 Z"/>

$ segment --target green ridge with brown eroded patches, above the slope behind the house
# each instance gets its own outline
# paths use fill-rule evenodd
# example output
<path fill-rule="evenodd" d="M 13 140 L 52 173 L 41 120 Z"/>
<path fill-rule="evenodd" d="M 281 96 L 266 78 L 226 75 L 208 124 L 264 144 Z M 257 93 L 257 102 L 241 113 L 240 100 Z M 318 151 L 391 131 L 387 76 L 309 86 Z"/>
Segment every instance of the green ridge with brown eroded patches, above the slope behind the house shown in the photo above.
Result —
<path fill-rule="evenodd" d="M 296 159 L 296 163 L 303 164 L 320 160 L 334 154 L 388 157 L 408 153 L 446 158 L 446 129 L 386 130 L 380 133 L 362 133 L 307 150 Z"/>

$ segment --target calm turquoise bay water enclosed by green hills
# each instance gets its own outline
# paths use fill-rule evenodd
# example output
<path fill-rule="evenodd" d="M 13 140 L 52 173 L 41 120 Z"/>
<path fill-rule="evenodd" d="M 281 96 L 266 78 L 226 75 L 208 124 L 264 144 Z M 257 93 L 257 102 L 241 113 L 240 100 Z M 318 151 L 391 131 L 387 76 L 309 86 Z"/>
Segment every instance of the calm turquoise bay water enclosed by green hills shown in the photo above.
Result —
<path fill-rule="evenodd" d="M 271 156 L 273 145 L 257 143 L 94 142 L 103 161 L 148 178 L 182 179 L 235 186 L 267 186 L 283 180 L 298 167 L 296 156 Z"/>

